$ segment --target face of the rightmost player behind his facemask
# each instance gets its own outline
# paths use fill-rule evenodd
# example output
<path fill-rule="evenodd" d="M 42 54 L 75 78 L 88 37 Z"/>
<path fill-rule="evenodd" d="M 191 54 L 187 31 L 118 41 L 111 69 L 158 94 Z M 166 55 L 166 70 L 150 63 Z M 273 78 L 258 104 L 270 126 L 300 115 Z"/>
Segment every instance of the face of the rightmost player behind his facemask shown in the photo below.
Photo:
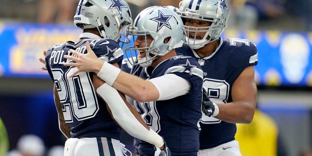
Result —
<path fill-rule="evenodd" d="M 210 26 L 211 22 L 204 21 L 204 20 L 186 19 L 184 25 L 191 27 L 189 28 L 191 30 L 190 36 L 189 36 L 190 39 L 203 39 L 206 32 L 205 31 L 200 32 L 200 30 L 208 30 L 207 26 Z M 203 27 L 203 28 L 200 28 L 200 27 Z M 197 30 L 197 33 L 195 33 L 196 30 Z"/>

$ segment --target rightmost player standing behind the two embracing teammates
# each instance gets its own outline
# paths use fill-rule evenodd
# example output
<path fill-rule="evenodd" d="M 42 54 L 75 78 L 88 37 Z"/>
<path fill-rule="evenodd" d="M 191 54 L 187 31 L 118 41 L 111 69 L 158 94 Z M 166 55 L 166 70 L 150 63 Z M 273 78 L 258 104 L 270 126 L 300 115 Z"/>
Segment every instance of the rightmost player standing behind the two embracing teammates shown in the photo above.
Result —
<path fill-rule="evenodd" d="M 226 0 L 182 0 L 177 13 L 186 44 L 176 51 L 198 61 L 207 91 L 198 156 L 241 156 L 235 123 L 250 123 L 254 117 L 256 46 L 248 39 L 220 37 L 229 16 Z"/>

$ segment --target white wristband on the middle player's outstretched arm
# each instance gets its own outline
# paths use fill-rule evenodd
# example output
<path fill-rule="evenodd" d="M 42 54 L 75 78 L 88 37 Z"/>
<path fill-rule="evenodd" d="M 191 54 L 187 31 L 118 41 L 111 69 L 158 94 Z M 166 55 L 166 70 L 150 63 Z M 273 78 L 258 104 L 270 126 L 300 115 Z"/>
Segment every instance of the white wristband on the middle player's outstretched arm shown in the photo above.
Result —
<path fill-rule="evenodd" d="M 103 81 L 105 81 L 107 84 L 113 85 L 119 73 L 119 68 L 105 62 L 99 70 L 97 76 L 98 78 L 101 78 Z"/>

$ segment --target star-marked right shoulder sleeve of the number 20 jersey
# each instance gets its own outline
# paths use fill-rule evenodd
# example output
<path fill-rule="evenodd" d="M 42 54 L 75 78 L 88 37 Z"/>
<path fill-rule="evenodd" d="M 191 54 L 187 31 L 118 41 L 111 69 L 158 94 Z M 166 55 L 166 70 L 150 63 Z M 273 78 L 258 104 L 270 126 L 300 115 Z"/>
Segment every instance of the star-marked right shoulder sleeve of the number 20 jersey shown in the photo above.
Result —
<path fill-rule="evenodd" d="M 123 59 L 123 51 L 119 44 L 112 39 L 97 39 L 90 43 L 91 49 L 97 57 L 108 63 L 117 62 L 119 65 Z"/>

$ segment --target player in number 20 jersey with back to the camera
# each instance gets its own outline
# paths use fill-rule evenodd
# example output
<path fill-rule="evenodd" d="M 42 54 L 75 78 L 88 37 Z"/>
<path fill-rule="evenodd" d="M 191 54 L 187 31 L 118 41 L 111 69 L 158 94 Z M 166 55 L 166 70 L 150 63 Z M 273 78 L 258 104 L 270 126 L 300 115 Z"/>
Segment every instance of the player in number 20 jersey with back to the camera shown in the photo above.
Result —
<path fill-rule="evenodd" d="M 131 22 L 131 11 L 125 0 L 80 0 L 74 17 L 74 24 L 83 30 L 79 41 L 56 44 L 44 52 L 45 60 L 40 59 L 46 62 L 43 69 L 55 82 L 59 127 L 68 137 L 65 156 L 123 155 L 118 125 L 130 135 L 153 144 L 155 156 L 160 153 L 170 156 L 163 138 L 143 122 L 137 111 L 125 102 L 124 95 L 109 85 L 101 90 L 100 86 L 107 83 L 93 72 L 69 77 L 77 68 L 63 65 L 70 61 L 63 58 L 64 55 L 74 56 L 70 50 L 86 53 L 87 43 L 99 60 L 118 69 L 123 50 L 117 42 L 123 36 L 127 47 L 127 38 L 122 32 Z"/>

